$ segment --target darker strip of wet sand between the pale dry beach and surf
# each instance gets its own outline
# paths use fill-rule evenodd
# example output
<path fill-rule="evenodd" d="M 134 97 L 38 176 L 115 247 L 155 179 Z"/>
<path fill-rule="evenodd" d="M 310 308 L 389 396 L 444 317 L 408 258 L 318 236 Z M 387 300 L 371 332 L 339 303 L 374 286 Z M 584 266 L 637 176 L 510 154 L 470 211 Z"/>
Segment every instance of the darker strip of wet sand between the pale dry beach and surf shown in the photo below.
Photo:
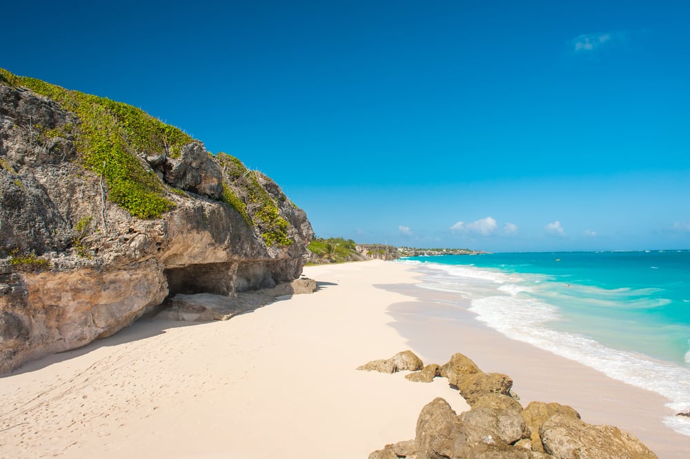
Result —
<path fill-rule="evenodd" d="M 666 398 L 613 380 L 573 360 L 506 338 L 475 319 L 469 301 L 410 284 L 378 285 L 415 297 L 388 308 L 391 326 L 424 362 L 444 363 L 453 351 L 484 371 L 508 374 L 523 406 L 533 400 L 571 405 L 590 424 L 615 425 L 634 433 L 660 458 L 687 458 L 690 437 L 662 423 L 673 412 Z"/>

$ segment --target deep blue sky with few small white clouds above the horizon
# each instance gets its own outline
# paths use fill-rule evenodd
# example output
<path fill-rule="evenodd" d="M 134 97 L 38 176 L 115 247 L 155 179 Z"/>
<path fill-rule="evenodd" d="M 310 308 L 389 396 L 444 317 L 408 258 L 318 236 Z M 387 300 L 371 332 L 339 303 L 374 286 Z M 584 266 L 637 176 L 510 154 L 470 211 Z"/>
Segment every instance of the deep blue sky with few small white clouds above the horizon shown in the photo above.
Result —
<path fill-rule="evenodd" d="M 318 236 L 690 248 L 690 2 L 3 6 L 0 67 L 268 174 Z"/>

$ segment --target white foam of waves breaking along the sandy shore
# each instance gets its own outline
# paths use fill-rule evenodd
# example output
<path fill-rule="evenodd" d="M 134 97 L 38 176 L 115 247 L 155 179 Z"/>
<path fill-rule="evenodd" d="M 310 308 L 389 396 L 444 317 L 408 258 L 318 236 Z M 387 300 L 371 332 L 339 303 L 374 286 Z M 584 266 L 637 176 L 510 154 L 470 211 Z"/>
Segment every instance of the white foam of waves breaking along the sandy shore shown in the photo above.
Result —
<path fill-rule="evenodd" d="M 562 319 L 562 312 L 555 305 L 544 301 L 544 298 L 549 301 L 564 298 L 559 296 L 558 289 L 568 290 L 570 285 L 566 284 L 567 287 L 564 287 L 561 283 L 552 283 L 548 289 L 538 290 L 542 288 L 542 281 L 553 278 L 467 265 L 425 263 L 420 268 L 427 274 L 421 287 L 455 292 L 471 300 L 469 310 L 477 314 L 477 320 L 505 336 L 575 360 L 624 383 L 660 394 L 671 400 L 667 407 L 673 411 L 690 410 L 690 368 L 634 351 L 613 349 L 582 334 L 564 332 L 553 327 Z M 644 299 L 658 292 L 658 289 L 653 288 L 605 291 L 591 286 L 577 287 L 582 300 L 593 307 L 620 309 L 624 304 L 624 307 L 635 309 L 642 307 L 643 302 L 645 307 L 667 304 L 663 298 Z M 690 363 L 690 350 L 685 354 L 685 360 Z M 688 419 L 669 416 L 664 419 L 664 424 L 690 436 Z"/>

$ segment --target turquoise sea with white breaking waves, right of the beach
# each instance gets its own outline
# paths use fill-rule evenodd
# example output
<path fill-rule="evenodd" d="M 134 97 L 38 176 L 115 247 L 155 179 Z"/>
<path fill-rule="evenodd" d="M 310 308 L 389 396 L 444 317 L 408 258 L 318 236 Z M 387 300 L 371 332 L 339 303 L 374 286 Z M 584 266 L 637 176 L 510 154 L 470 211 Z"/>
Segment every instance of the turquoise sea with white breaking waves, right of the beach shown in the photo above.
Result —
<path fill-rule="evenodd" d="M 418 256 L 422 287 L 498 332 L 690 410 L 690 251 Z M 664 423 L 690 436 L 690 419 Z"/>

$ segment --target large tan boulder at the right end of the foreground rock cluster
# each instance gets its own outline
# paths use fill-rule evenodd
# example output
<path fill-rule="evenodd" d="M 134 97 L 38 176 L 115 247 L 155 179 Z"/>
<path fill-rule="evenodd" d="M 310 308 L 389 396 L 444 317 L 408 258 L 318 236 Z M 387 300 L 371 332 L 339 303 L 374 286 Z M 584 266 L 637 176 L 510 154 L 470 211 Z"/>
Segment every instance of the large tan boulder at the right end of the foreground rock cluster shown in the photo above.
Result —
<path fill-rule="evenodd" d="M 540 428 L 544 452 L 556 458 L 651 459 L 657 456 L 632 433 L 611 425 L 590 425 L 556 414 Z"/>

